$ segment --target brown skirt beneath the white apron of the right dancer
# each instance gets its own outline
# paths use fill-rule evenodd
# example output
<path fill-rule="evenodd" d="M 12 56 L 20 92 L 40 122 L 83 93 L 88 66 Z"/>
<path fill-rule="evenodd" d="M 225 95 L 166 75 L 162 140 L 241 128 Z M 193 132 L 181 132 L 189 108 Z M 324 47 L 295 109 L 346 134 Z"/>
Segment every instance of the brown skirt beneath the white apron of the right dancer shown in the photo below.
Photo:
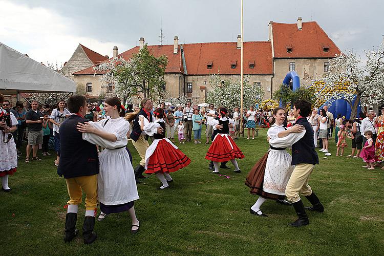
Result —
<path fill-rule="evenodd" d="M 245 185 L 250 188 L 249 192 L 253 195 L 259 195 L 263 198 L 272 200 L 283 200 L 285 198 L 284 196 L 267 193 L 263 190 L 264 172 L 265 166 L 267 165 L 268 154 L 269 151 L 265 153 L 265 155 L 260 158 L 260 160 L 255 165 L 253 165 L 251 171 L 248 174 L 248 177 L 245 179 Z"/>

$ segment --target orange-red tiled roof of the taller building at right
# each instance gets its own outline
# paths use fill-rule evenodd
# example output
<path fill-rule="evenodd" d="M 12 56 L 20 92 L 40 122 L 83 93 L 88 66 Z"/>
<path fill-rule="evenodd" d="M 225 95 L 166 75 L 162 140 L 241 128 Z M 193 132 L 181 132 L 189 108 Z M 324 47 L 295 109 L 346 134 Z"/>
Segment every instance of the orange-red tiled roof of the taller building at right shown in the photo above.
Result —
<path fill-rule="evenodd" d="M 332 58 L 341 51 L 316 22 L 297 24 L 272 22 L 273 50 L 275 58 Z M 287 46 L 292 52 L 287 52 Z M 324 52 L 323 46 L 328 46 Z"/>

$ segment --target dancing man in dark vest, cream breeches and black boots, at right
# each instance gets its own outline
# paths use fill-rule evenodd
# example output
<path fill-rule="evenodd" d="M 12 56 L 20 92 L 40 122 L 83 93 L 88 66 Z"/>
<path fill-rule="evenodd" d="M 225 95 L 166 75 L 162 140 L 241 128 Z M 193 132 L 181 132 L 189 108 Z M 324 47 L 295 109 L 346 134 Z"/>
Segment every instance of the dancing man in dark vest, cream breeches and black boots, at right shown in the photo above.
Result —
<path fill-rule="evenodd" d="M 300 227 L 309 224 L 309 219 L 305 211 L 304 204 L 300 198 L 300 194 L 305 196 L 308 201 L 313 205 L 306 207 L 312 211 L 323 212 L 324 206 L 317 198 L 312 188 L 308 185 L 309 177 L 313 171 L 315 164 L 318 164 L 318 156 L 315 151 L 313 141 L 313 129 L 308 122 L 307 117 L 311 112 L 311 103 L 305 100 L 298 100 L 293 104 L 293 115 L 296 118 L 295 125 L 301 124 L 305 127 L 305 132 L 300 136 L 290 134 L 289 138 L 275 138 L 271 139 L 269 143 L 274 143 L 276 147 L 287 147 L 292 145 L 292 162 L 295 165 L 292 175 L 288 181 L 285 189 L 287 199 L 292 203 L 296 210 L 298 219 L 291 223 L 293 227 Z"/>

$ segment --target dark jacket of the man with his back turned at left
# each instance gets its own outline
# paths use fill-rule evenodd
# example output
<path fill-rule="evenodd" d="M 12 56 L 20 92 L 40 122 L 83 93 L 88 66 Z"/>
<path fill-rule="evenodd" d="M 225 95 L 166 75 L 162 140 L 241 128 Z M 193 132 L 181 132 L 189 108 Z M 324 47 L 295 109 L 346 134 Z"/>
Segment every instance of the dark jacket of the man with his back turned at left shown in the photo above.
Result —
<path fill-rule="evenodd" d="M 78 115 L 71 115 L 60 124 L 60 163 L 57 174 L 64 178 L 90 176 L 99 173 L 99 156 L 96 145 L 82 139 L 77 131 L 78 122 L 88 122 Z"/>

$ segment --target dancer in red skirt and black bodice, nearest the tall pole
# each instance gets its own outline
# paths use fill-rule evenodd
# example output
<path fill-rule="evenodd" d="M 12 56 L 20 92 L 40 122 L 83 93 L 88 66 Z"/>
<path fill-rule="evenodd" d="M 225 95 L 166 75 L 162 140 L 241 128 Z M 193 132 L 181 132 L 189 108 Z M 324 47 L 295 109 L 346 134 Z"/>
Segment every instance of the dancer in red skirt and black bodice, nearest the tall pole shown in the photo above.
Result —
<path fill-rule="evenodd" d="M 210 145 L 205 159 L 211 160 L 214 162 L 215 170 L 211 173 L 219 173 L 219 162 L 231 161 L 234 166 L 235 173 L 241 173 L 236 158 L 244 158 L 243 152 L 240 148 L 234 143 L 233 139 L 229 135 L 229 120 L 226 117 L 228 111 L 226 108 L 220 108 L 220 119 L 213 119 L 209 121 L 209 125 L 214 127 L 214 130 L 218 131 L 218 134 L 215 136 L 214 141 Z"/>

